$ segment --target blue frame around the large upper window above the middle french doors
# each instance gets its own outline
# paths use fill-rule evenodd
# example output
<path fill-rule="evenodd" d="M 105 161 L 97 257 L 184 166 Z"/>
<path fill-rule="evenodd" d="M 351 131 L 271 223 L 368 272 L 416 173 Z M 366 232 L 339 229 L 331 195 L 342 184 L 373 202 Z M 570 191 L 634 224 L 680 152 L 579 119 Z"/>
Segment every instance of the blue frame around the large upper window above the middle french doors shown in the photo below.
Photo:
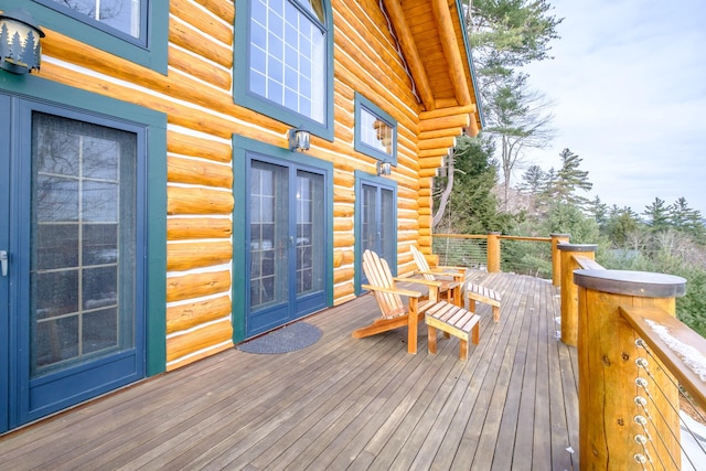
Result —
<path fill-rule="evenodd" d="M 267 115 L 278 121 L 286 122 L 291 127 L 301 127 L 314 136 L 333 141 L 333 12 L 331 10 L 331 2 L 323 0 L 325 17 L 324 30 L 327 35 L 324 72 L 327 93 L 324 98 L 325 118 L 323 124 L 317 122 L 313 119 L 249 92 L 248 84 L 250 63 L 248 54 L 248 38 L 250 36 L 250 0 L 235 1 L 235 11 L 237 13 L 235 15 L 235 45 L 233 47 L 234 63 L 243 64 L 243 66 L 234 67 L 233 71 L 233 99 L 235 104 Z M 247 60 L 243 61 L 243 57 L 247 57 Z"/>

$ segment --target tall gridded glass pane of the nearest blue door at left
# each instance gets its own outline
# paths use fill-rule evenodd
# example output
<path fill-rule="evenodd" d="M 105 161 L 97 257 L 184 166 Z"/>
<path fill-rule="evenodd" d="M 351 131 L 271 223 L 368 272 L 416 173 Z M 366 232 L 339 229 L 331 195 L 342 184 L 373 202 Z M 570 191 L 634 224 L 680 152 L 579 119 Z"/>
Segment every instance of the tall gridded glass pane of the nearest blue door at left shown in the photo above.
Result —
<path fill-rule="evenodd" d="M 137 136 L 32 115 L 32 375 L 131 349 Z"/>

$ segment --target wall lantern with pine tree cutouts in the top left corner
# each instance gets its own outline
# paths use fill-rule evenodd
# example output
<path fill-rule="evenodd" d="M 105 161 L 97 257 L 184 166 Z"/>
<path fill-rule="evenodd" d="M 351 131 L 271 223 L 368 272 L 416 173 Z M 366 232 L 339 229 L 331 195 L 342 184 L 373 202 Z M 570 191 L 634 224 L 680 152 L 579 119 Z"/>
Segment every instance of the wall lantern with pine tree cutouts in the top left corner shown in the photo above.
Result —
<path fill-rule="evenodd" d="M 13 74 L 39 71 L 44 32 L 26 10 L 0 13 L 0 67 Z"/>

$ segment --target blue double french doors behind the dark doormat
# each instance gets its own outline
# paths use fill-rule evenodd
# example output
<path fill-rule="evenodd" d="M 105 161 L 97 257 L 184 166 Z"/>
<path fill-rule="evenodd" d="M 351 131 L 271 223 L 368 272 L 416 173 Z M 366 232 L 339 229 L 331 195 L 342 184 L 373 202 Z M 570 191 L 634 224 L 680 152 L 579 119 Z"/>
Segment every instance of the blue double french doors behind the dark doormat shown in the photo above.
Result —
<path fill-rule="evenodd" d="M 325 176 L 250 158 L 246 336 L 327 306 Z"/>

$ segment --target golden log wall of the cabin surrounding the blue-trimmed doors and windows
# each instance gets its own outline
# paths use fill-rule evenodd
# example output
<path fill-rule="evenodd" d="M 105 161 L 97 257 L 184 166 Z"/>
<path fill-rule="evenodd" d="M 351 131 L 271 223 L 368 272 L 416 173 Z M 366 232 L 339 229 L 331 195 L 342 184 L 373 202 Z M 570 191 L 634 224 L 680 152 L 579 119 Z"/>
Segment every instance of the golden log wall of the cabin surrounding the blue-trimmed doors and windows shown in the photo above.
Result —
<path fill-rule="evenodd" d="M 446 92 L 431 97 L 430 103 L 429 87 L 434 84 L 421 84 L 426 103 L 425 96 L 413 93 L 420 87 L 413 81 L 419 64 L 403 60 L 399 51 L 405 46 L 400 47 L 399 36 L 422 28 L 422 20 L 428 22 L 428 1 L 404 2 L 405 9 L 411 9 L 405 17 L 413 20 L 406 33 L 389 28 L 400 13 L 398 7 L 384 12 L 382 3 L 391 2 L 332 1 L 334 139 L 312 136 L 308 151 L 334 165 L 335 304 L 355 296 L 354 172 L 375 174 L 376 164 L 354 150 L 354 94 L 363 94 L 397 120 L 398 164 L 389 179 L 398 185 L 397 261 L 402 274 L 414 268 L 408 246 L 418 244 L 428 251 L 431 244 L 431 180 L 436 169 L 454 137 L 475 121 L 471 119 L 474 105 L 454 97 L 458 89 L 453 88 L 453 77 L 449 77 L 443 61 L 435 58 L 443 54 L 436 40 L 418 53 L 428 62 L 427 76 Z M 434 3 L 458 15 L 453 1 Z M 169 9 L 167 75 L 45 29 L 40 76 L 168 117 L 165 368 L 173 370 L 233 346 L 232 136 L 286 148 L 289 126 L 234 104 L 233 67 L 243 64 L 233 60 L 238 12 L 232 0 L 171 0 Z"/>

